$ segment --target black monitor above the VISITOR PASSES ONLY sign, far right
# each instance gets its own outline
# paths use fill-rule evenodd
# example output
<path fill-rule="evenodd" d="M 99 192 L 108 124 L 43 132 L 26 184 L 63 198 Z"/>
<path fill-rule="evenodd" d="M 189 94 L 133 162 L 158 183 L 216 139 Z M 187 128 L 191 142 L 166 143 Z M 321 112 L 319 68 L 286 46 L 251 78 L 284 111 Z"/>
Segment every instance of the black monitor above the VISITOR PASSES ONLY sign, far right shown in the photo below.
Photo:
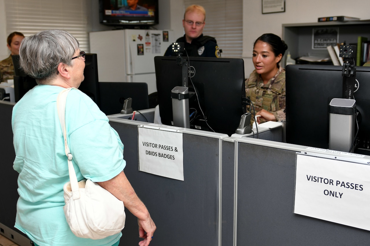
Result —
<path fill-rule="evenodd" d="M 286 66 L 286 141 L 317 148 L 329 148 L 328 107 L 342 98 L 342 66 Z M 359 133 L 355 153 L 369 155 L 370 67 L 356 66 L 354 99 L 359 112 Z"/>

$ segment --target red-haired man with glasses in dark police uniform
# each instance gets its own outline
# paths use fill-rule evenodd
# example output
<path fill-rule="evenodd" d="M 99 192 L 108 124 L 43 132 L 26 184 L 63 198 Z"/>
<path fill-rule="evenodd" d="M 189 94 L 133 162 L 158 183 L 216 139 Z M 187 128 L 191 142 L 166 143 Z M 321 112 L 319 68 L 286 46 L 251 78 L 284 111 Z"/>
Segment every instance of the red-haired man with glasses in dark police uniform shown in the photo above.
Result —
<path fill-rule="evenodd" d="M 202 6 L 191 5 L 186 8 L 184 20 L 182 20 L 185 35 L 178 38 L 176 42 L 185 44 L 189 57 L 221 57 L 221 50 L 217 46 L 216 39 L 203 35 L 205 19 L 206 11 Z M 172 55 L 172 45 L 167 48 L 164 55 Z"/>

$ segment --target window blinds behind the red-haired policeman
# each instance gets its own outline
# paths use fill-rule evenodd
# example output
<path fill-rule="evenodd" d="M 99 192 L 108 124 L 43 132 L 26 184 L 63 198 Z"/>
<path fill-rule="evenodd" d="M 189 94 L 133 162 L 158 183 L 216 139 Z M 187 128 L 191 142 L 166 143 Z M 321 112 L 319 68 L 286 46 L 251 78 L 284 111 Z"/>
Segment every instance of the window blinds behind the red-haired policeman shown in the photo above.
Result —
<path fill-rule="evenodd" d="M 242 0 L 184 0 L 189 5 L 201 5 L 206 10 L 204 35 L 215 37 L 222 49 L 221 57 L 241 58 L 243 48 Z"/>

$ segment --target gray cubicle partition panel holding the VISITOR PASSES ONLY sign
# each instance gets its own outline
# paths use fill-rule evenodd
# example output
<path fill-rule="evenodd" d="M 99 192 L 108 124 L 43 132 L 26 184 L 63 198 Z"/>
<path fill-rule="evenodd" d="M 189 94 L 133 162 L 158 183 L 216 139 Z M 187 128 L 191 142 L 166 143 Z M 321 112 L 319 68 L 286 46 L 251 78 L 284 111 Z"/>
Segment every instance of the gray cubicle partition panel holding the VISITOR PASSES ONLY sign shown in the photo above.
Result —
<path fill-rule="evenodd" d="M 369 245 L 367 230 L 293 213 L 296 151 L 304 146 L 236 141 L 234 245 Z"/>

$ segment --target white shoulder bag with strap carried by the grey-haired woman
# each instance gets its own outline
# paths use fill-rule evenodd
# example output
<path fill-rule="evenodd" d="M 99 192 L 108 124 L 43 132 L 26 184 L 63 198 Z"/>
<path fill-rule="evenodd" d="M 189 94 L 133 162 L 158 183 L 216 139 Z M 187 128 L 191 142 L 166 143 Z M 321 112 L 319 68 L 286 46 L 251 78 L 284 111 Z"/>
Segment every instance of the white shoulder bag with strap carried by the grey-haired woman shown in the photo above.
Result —
<path fill-rule="evenodd" d="M 64 187 L 63 207 L 65 218 L 74 235 L 80 238 L 102 239 L 120 233 L 125 226 L 126 214 L 122 201 L 91 180 L 77 182 L 72 154 L 67 144 L 65 129 L 65 101 L 68 88 L 57 98 L 57 110 L 64 136 L 65 154 L 68 157 L 70 182 Z"/>

